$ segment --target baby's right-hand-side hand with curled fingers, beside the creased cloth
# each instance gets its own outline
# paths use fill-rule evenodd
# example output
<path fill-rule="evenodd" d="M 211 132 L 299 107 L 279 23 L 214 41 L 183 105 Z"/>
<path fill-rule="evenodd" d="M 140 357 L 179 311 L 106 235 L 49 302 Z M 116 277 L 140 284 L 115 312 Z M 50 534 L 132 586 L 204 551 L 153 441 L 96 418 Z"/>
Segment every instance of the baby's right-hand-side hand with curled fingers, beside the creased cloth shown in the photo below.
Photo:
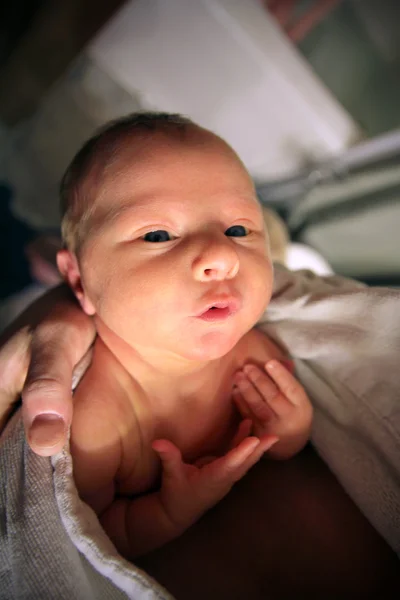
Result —
<path fill-rule="evenodd" d="M 303 386 L 279 361 L 267 362 L 265 371 L 246 365 L 236 373 L 233 400 L 241 415 L 253 421 L 254 435 L 279 438 L 268 455 L 290 458 L 310 437 L 311 402 Z"/>

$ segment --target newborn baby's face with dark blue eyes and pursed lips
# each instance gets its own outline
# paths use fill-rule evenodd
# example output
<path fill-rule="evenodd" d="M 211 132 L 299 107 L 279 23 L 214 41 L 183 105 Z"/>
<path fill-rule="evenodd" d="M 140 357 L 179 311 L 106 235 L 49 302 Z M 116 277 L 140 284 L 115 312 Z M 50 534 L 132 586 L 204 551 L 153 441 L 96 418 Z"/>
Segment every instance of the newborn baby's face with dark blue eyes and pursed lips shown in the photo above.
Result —
<path fill-rule="evenodd" d="M 199 130 L 127 145 L 80 256 L 83 305 L 129 345 L 191 360 L 229 352 L 272 289 L 264 221 L 233 151 Z"/>

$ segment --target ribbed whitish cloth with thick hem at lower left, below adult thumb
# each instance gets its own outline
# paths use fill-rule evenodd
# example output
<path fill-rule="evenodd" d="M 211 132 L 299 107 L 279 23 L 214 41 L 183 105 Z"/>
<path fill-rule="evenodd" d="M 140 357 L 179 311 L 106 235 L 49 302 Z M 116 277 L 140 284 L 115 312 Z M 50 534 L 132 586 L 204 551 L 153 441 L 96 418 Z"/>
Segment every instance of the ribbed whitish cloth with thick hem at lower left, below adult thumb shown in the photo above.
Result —
<path fill-rule="evenodd" d="M 68 450 L 51 461 L 29 449 L 20 413 L 1 437 L 0 472 L 2 600 L 171 598 L 117 553 L 80 500 Z"/>

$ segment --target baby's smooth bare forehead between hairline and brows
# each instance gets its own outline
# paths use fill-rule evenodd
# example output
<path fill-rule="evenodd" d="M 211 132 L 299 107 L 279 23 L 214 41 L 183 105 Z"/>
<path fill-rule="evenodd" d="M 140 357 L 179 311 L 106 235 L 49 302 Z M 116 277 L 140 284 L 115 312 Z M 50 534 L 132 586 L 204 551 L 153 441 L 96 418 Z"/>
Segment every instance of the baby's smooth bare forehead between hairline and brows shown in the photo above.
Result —
<path fill-rule="evenodd" d="M 195 194 L 214 177 L 229 194 L 234 187 L 253 195 L 253 182 L 236 153 L 218 136 L 195 125 L 177 131 L 117 136 L 101 149 L 88 188 L 94 205 L 108 214 L 111 204 L 138 197 Z M 207 187 L 207 186 L 206 186 Z M 95 206 L 93 208 L 95 208 Z M 103 210 L 101 210 L 103 213 Z"/>

